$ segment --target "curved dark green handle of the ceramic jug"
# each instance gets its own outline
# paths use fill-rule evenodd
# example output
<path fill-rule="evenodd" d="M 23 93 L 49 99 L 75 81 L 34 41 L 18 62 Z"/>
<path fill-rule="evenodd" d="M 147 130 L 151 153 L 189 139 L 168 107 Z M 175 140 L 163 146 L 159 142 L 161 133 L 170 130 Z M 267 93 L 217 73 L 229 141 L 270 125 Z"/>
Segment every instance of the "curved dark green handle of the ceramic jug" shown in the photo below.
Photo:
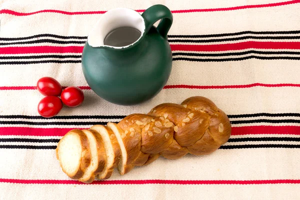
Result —
<path fill-rule="evenodd" d="M 146 33 L 156 21 L 161 19 L 156 29 L 162 37 L 167 38 L 167 32 L 169 31 L 173 22 L 173 15 L 166 6 L 161 4 L 152 5 L 146 9 L 141 16 L 145 20 Z"/>

